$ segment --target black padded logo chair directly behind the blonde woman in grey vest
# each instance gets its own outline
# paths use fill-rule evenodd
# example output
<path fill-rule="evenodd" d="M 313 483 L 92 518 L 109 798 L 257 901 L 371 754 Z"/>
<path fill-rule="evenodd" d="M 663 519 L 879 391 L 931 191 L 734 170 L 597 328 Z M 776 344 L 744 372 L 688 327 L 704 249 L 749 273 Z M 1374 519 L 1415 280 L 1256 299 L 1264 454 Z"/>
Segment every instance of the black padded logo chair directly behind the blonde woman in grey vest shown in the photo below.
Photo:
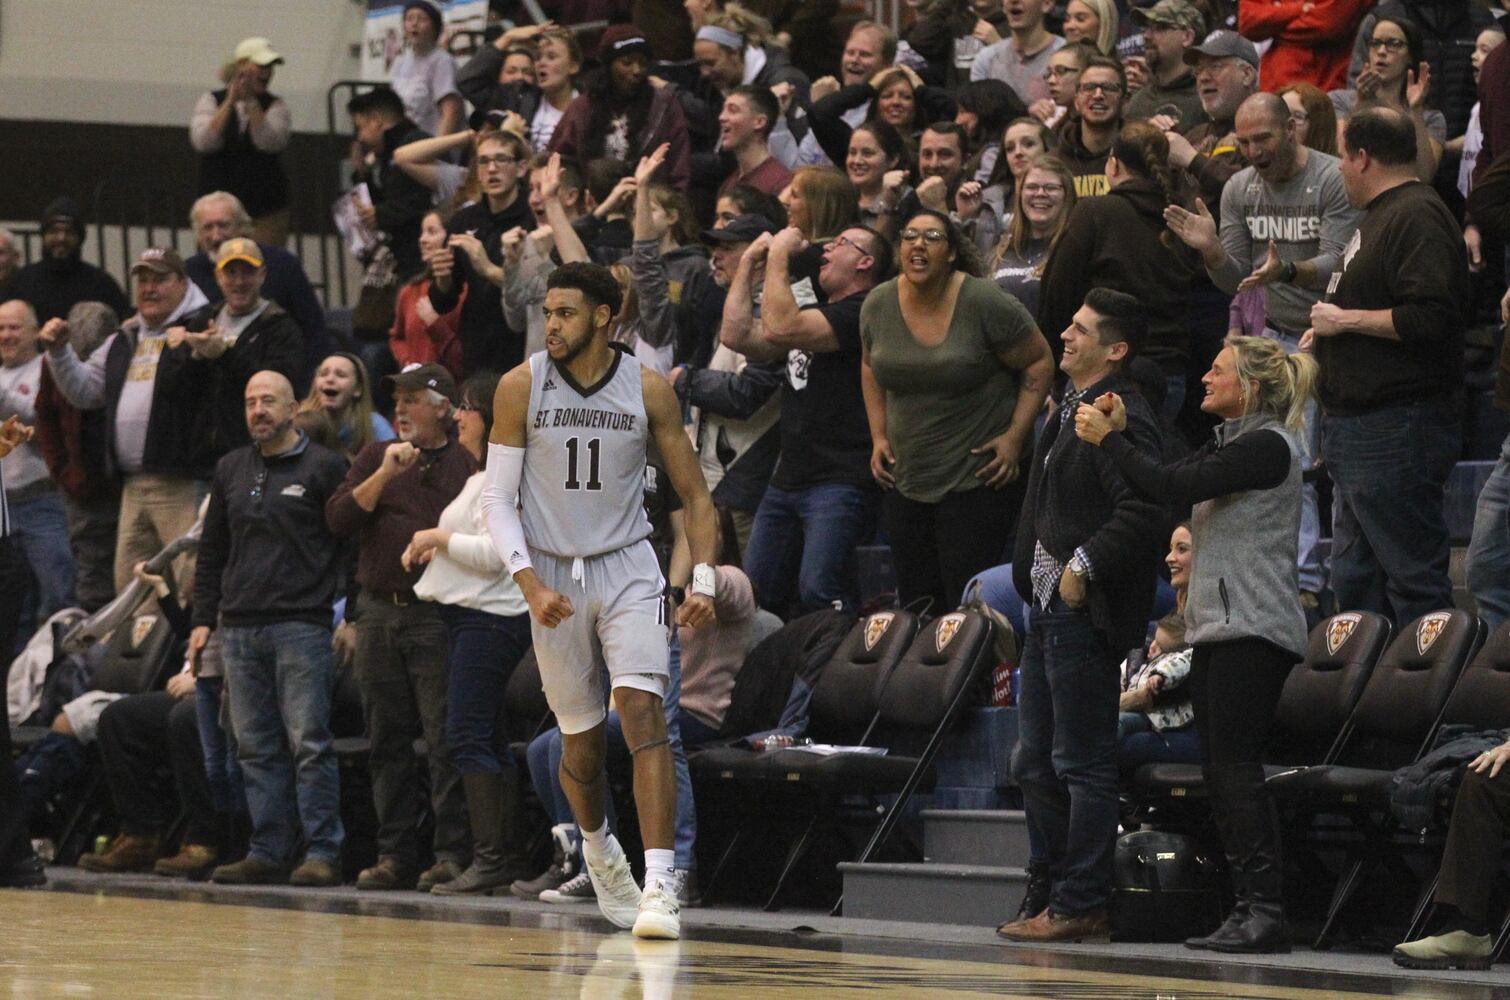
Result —
<path fill-rule="evenodd" d="M 1373 612 L 1333 615 L 1311 630 L 1306 659 L 1290 671 L 1274 710 L 1265 751 L 1270 775 L 1336 760 L 1389 633 L 1389 619 Z M 1205 796 L 1199 764 L 1145 764 L 1136 781 L 1143 804 Z"/>

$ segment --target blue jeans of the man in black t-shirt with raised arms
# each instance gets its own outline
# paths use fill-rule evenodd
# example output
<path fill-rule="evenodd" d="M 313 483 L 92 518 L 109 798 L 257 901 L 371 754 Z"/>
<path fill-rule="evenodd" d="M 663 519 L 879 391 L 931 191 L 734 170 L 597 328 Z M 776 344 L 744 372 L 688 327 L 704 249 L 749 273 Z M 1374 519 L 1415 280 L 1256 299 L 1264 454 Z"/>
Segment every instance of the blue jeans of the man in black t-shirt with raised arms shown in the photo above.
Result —
<path fill-rule="evenodd" d="M 767 486 L 744 550 L 760 604 L 785 615 L 855 606 L 855 547 L 876 532 L 874 489 L 826 483 Z M 796 594 L 793 594 L 796 583 Z"/>

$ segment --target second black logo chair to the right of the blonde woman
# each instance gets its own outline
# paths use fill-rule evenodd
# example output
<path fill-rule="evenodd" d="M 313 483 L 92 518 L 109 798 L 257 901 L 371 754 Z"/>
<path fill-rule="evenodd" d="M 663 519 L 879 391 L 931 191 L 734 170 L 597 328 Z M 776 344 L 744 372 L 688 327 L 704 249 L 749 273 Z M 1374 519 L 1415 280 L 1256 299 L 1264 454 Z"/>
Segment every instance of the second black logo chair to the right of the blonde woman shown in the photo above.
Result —
<path fill-rule="evenodd" d="M 1415 619 L 1368 677 L 1335 761 L 1270 775 L 1271 793 L 1302 820 L 1300 843 L 1345 853 L 1315 947 L 1330 946 L 1364 875 L 1391 853 L 1398 832 L 1389 811 L 1391 775 L 1431 749 L 1448 698 L 1483 642 L 1484 625 L 1468 612 Z"/>

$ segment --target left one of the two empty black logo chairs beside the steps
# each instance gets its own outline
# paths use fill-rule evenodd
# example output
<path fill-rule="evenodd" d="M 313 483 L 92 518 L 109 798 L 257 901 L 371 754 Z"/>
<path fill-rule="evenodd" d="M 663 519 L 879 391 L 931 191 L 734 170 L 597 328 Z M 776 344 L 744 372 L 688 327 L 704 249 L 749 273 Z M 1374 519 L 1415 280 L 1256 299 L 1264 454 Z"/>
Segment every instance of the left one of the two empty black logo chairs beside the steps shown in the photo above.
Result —
<path fill-rule="evenodd" d="M 808 734 L 814 742 L 864 745 L 870 739 L 876 727 L 877 701 L 886 677 L 906 654 L 917 631 L 917 616 L 904 610 L 877 612 L 855 622 L 823 666 L 812 687 Z M 735 681 L 734 699 L 737 701 L 738 696 L 740 684 Z M 769 719 L 769 722 L 775 725 L 776 721 Z M 778 757 L 787 758 L 791 757 L 791 752 L 760 752 L 752 751 L 744 742 L 734 742 L 698 751 L 689 755 L 687 764 L 692 769 L 693 789 L 699 801 L 714 798 L 726 801 L 729 808 L 741 810 L 749 802 L 744 793 L 749 785 L 769 787 L 769 782 L 782 779 Z M 817 822 L 815 816 L 817 811 L 814 811 L 814 819 L 809 820 L 803 835 L 788 850 L 782 875 L 766 903 L 767 908 L 775 905 L 782 882 L 806 850 L 808 837 Z M 723 846 L 713 872 L 702 881 L 705 899 L 711 899 L 719 876 L 734 858 L 747 832 L 746 823 L 734 828 L 734 834 Z"/>

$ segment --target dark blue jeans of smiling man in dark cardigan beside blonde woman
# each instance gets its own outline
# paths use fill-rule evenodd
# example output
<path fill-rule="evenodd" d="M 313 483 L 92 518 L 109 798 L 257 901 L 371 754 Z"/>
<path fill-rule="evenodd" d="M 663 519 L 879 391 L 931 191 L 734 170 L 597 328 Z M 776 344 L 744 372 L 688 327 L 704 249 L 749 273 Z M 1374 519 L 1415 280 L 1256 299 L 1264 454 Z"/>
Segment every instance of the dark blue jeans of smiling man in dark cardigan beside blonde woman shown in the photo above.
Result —
<path fill-rule="evenodd" d="M 1117 835 L 1117 656 L 1090 615 L 1033 609 L 1018 669 L 1018 749 L 1028 834 L 1054 873 L 1049 906 L 1080 915 L 1111 896 Z"/>

